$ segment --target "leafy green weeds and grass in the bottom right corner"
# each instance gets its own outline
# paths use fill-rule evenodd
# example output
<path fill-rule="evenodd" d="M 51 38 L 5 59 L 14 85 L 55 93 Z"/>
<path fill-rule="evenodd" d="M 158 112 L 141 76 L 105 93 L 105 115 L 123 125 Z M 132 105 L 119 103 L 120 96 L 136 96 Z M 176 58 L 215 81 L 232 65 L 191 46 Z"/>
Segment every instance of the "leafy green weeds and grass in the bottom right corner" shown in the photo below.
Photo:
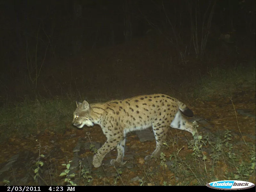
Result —
<path fill-rule="evenodd" d="M 193 153 L 181 156 L 175 141 L 168 166 L 174 176 L 165 185 L 201 185 L 217 180 L 244 180 L 255 183 L 255 143 L 239 145 L 226 130 L 221 136 L 206 134 L 199 142 L 188 141 Z M 206 150 L 205 150 L 206 149 Z M 206 152 L 204 152 L 206 151 Z M 176 180 L 178 178 L 178 180 Z"/>

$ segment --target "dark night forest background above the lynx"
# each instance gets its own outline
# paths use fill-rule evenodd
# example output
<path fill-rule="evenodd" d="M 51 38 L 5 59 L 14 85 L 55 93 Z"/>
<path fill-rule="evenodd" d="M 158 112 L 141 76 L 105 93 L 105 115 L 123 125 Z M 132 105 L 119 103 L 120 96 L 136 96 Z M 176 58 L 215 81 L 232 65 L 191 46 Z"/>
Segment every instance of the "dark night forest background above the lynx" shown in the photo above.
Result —
<path fill-rule="evenodd" d="M 126 87 L 121 95 L 142 93 L 141 87 L 152 92 L 163 82 L 190 81 L 209 68 L 236 68 L 255 57 L 254 0 L 0 4 L 3 103 L 35 95 L 111 95 L 100 90 L 113 86 L 114 92 Z"/>

